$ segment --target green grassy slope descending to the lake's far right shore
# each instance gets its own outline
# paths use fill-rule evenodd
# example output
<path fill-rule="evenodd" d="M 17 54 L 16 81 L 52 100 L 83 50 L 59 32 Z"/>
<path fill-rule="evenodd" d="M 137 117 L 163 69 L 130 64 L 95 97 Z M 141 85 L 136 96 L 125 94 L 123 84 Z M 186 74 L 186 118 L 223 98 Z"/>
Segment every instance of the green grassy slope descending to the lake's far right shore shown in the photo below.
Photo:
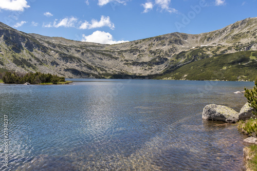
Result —
<path fill-rule="evenodd" d="M 156 79 L 254 81 L 257 51 L 221 54 L 186 64 Z"/>

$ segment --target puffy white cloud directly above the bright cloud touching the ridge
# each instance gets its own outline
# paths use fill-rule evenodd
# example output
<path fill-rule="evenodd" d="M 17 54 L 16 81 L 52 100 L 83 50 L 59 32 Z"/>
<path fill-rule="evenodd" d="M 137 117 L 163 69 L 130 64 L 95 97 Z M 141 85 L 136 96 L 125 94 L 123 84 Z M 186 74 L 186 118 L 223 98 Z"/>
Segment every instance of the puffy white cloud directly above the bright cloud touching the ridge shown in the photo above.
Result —
<path fill-rule="evenodd" d="M 109 27 L 111 29 L 114 29 L 114 24 L 111 22 L 109 16 L 101 16 L 101 20 L 97 21 L 95 19 L 91 20 L 91 23 L 85 21 L 80 25 L 80 29 L 93 29 L 93 28 L 99 28 L 99 27 Z"/>

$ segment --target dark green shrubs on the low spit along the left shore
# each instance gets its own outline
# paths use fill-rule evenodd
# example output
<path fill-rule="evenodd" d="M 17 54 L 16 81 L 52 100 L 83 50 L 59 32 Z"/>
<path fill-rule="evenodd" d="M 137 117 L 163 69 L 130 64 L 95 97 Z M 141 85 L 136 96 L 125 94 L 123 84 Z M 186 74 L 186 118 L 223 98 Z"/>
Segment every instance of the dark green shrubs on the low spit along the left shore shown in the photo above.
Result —
<path fill-rule="evenodd" d="M 53 83 L 57 84 L 58 82 L 65 82 L 64 77 L 59 77 L 57 75 L 52 75 L 50 73 L 27 73 L 25 75 L 17 75 L 15 72 L 6 72 L 3 76 L 4 83 L 15 83 L 15 84 L 24 84 L 26 82 L 30 84 L 42 84 L 42 83 Z"/>

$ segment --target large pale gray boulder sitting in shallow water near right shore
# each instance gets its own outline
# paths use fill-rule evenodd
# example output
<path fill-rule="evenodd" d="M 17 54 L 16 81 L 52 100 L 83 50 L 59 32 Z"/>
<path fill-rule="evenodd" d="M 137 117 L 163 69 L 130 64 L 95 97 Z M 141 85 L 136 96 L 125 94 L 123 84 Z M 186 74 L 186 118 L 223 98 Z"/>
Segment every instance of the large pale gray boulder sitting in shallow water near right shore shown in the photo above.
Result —
<path fill-rule="evenodd" d="M 209 104 L 203 111 L 203 119 L 235 123 L 238 121 L 238 112 L 227 106 Z"/>

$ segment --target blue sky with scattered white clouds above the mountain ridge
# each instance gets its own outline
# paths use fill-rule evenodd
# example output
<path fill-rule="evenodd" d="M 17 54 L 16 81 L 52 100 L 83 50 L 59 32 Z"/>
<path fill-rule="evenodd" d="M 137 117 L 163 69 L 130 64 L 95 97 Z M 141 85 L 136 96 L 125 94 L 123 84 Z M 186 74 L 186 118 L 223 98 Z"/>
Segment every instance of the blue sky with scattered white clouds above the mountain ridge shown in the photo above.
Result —
<path fill-rule="evenodd" d="M 0 22 L 26 33 L 114 44 L 198 34 L 257 16 L 257 0 L 0 0 Z"/>

